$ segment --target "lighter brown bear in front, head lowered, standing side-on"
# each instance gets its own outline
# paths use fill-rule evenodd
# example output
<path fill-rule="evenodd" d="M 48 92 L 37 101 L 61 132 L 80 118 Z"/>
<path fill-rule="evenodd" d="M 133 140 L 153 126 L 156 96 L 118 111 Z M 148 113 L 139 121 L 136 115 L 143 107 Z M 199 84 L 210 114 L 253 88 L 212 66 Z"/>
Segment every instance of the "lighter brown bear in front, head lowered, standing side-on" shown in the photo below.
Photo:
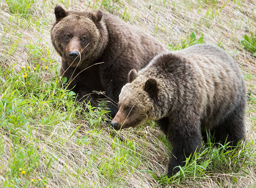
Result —
<path fill-rule="evenodd" d="M 221 144 L 245 139 L 243 75 L 221 48 L 197 44 L 162 53 L 142 70 L 131 70 L 128 82 L 111 124 L 119 130 L 154 120 L 173 147 L 169 176 L 200 149 L 206 129 Z"/>

